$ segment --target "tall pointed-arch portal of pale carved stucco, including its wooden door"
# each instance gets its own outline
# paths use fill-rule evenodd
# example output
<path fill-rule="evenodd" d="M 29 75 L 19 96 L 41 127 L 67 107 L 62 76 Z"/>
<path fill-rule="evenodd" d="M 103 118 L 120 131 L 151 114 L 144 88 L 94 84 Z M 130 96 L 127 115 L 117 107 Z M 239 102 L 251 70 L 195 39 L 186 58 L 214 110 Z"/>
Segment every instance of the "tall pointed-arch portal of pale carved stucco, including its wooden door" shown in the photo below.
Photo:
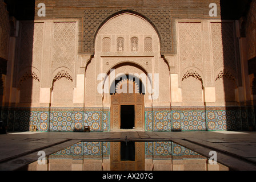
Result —
<path fill-rule="evenodd" d="M 153 107 L 153 95 L 158 94 L 153 86 L 158 78 L 155 75 L 166 66 L 159 57 L 159 36 L 142 16 L 122 13 L 107 19 L 101 26 L 95 36 L 94 57 L 86 70 L 85 92 L 89 94 L 85 94 L 85 105 L 103 107 L 103 131 L 145 131 L 146 126 L 152 125 L 145 121 L 145 110 Z M 91 80 L 97 82 L 95 75 L 99 81 L 97 87 L 90 86 Z M 120 75 L 134 75 L 139 82 L 130 77 L 117 79 Z M 111 85 L 114 85 L 114 93 L 111 93 Z M 147 91 L 145 94 L 141 86 Z"/>

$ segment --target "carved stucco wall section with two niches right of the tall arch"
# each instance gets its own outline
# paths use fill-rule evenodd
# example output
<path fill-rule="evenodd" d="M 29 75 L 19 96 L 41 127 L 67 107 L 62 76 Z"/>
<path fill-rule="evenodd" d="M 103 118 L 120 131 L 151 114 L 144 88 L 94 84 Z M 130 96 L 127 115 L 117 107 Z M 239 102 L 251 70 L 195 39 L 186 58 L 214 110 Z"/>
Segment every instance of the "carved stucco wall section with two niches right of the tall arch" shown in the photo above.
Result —
<path fill-rule="evenodd" d="M 234 23 L 231 21 L 179 20 L 177 22 L 177 36 L 178 64 L 176 69 L 179 70 L 180 75 L 182 102 L 190 102 L 189 100 L 191 99 L 189 97 L 202 98 L 202 93 L 199 90 L 201 89 L 202 92 L 203 87 L 206 86 L 214 86 L 218 92 L 216 94 L 220 94 L 219 90 L 222 90 L 222 105 L 225 105 L 225 93 L 226 96 L 232 95 L 226 101 L 235 101 L 235 97 L 233 97 L 234 89 L 238 87 L 241 75 L 239 72 L 240 63 L 237 61 Z M 196 90 L 194 87 L 197 82 L 189 76 L 201 79 L 201 86 L 198 85 L 200 87 L 198 94 L 194 91 Z M 223 82 L 222 77 L 231 80 L 233 86 L 229 84 L 229 81 Z M 187 82 L 187 79 L 191 82 Z M 218 83 L 216 82 L 217 80 Z M 193 84 L 193 82 L 195 83 Z M 188 85 L 191 85 L 190 92 L 186 92 L 188 91 L 186 89 Z M 228 85 L 229 89 L 224 90 Z M 202 99 L 199 100 L 203 101 Z M 218 102 L 219 100 L 218 96 Z M 197 105 L 196 102 L 194 104 Z M 193 105 L 193 103 L 189 105 Z"/>

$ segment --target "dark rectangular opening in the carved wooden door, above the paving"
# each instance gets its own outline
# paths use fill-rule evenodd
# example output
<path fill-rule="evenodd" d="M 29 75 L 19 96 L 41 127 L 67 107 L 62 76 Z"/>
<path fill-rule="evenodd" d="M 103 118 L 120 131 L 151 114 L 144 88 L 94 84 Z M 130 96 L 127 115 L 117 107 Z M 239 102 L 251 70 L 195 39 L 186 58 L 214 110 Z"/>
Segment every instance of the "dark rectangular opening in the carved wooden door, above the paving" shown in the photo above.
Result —
<path fill-rule="evenodd" d="M 121 129 L 134 129 L 134 105 L 121 105 Z"/>

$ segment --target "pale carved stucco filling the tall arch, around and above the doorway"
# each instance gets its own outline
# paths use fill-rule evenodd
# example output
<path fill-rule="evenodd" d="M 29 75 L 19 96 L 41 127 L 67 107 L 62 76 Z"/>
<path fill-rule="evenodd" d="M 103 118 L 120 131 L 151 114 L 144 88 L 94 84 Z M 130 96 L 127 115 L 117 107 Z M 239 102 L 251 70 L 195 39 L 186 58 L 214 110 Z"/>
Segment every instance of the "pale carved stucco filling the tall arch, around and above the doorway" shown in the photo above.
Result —
<path fill-rule="evenodd" d="M 105 42 L 106 38 L 108 39 L 108 44 Z M 122 51 L 118 51 L 119 39 L 121 40 L 121 38 L 124 47 Z M 132 49 L 133 40 L 136 40 L 135 42 L 137 43 L 136 51 Z M 110 46 L 110 48 L 107 48 L 106 45 Z M 106 52 L 106 50 L 109 51 Z M 118 64 L 124 68 L 123 72 L 119 72 L 121 69 Z M 86 102 L 94 102 L 94 97 L 92 96 L 97 90 L 91 83 L 97 81 L 95 79 L 98 74 L 108 73 L 111 68 L 115 67 L 118 68 L 118 72 L 115 75 L 118 73 L 145 73 L 147 76 L 148 73 L 158 73 L 159 97 L 155 102 L 170 105 L 169 68 L 165 61 L 160 58 L 159 36 L 154 27 L 141 16 L 130 13 L 114 16 L 103 24 L 98 31 L 95 38 L 95 57 L 91 60 L 86 70 Z M 134 72 L 133 67 L 141 68 L 137 68 L 137 72 Z M 97 97 L 97 93 L 95 93 L 95 96 L 97 102 L 101 102 L 100 95 L 98 94 Z M 146 98 L 145 102 L 147 100 L 148 98 Z"/>

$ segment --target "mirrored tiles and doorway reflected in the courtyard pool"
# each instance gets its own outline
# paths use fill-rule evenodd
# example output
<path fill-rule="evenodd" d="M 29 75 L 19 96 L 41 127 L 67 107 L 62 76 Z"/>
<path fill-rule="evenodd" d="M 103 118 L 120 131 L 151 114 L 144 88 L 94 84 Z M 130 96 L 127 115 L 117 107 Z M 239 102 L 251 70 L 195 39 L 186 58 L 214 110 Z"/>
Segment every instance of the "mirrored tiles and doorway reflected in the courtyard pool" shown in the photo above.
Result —
<path fill-rule="evenodd" d="M 79 142 L 47 156 L 31 171 L 223 171 L 205 156 L 174 142 Z"/>

